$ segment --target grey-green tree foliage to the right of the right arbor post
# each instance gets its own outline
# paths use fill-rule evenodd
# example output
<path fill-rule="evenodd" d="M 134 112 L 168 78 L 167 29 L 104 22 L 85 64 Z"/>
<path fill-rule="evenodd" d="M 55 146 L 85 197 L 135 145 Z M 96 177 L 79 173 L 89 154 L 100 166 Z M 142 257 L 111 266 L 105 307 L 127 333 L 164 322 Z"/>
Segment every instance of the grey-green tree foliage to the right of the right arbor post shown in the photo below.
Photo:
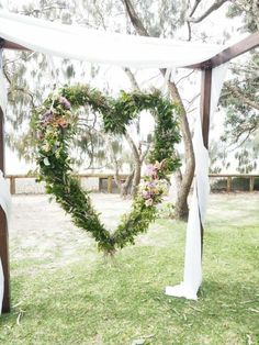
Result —
<path fill-rule="evenodd" d="M 240 31 L 254 33 L 259 30 L 259 2 L 235 1 L 227 15 L 240 16 Z M 257 168 L 259 159 L 259 53 L 248 53 L 246 59 L 230 65 L 233 78 L 225 84 L 221 104 L 226 109 L 225 133 L 222 140 L 228 151 L 235 148 L 240 172 Z"/>

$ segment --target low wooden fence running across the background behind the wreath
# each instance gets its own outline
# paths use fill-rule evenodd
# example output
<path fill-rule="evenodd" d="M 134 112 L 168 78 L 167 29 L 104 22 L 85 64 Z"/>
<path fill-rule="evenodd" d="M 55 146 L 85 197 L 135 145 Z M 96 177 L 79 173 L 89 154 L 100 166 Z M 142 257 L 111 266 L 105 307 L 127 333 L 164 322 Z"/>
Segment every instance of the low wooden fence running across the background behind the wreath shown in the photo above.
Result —
<path fill-rule="evenodd" d="M 114 176 L 112 174 L 79 174 L 76 175 L 80 180 L 83 188 L 91 189 L 92 191 L 104 191 L 108 193 L 117 192 L 117 187 L 114 181 Z M 256 178 L 259 179 L 259 175 L 239 175 L 239 174 L 210 174 L 211 180 L 224 180 L 226 181 L 226 187 L 223 187 L 227 192 L 233 190 L 233 179 L 241 178 L 249 180 L 249 191 L 255 190 Z M 121 181 L 125 181 L 127 175 L 120 175 Z M 36 183 L 36 176 L 32 175 L 7 175 L 7 180 L 10 185 L 11 194 L 21 193 L 44 193 L 44 183 Z"/>

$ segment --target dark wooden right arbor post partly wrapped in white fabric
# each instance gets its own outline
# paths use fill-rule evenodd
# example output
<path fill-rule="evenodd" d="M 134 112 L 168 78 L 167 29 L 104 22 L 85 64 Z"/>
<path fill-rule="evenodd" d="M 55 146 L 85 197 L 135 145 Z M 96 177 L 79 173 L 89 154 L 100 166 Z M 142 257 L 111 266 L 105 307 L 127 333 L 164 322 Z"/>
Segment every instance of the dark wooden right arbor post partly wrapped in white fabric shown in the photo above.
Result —
<path fill-rule="evenodd" d="M 212 90 L 212 68 L 201 70 L 201 122 L 203 144 L 209 148 L 210 132 L 210 111 L 211 111 L 211 90 Z M 204 230 L 201 222 L 201 252 L 203 253 Z"/>

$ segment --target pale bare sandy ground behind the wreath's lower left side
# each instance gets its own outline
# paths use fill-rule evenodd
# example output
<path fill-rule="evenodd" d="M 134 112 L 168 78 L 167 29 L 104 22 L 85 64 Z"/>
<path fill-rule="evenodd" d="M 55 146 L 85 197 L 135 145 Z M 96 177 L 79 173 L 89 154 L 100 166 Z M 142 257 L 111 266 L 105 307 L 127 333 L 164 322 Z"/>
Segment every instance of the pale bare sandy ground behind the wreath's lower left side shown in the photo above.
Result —
<path fill-rule="evenodd" d="M 120 215 L 131 205 L 130 200 L 116 194 L 92 194 L 92 202 L 109 229 L 116 226 Z M 12 198 L 10 244 L 13 260 L 55 257 L 55 265 L 76 259 L 82 247 L 95 251 L 90 234 L 77 229 L 70 216 L 55 201 L 49 202 L 47 196 Z"/>

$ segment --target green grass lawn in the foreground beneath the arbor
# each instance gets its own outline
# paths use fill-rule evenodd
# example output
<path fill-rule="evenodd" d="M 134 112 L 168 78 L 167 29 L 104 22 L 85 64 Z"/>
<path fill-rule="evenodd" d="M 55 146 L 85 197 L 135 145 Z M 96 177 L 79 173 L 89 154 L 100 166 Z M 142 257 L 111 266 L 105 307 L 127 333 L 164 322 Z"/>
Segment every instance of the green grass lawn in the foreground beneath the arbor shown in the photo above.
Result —
<path fill-rule="evenodd" d="M 211 197 L 196 302 L 164 294 L 183 267 L 185 225 L 169 220 L 114 259 L 93 245 L 65 265 L 55 266 L 61 252 L 11 261 L 0 344 L 259 344 L 258 209 L 259 194 Z"/>

